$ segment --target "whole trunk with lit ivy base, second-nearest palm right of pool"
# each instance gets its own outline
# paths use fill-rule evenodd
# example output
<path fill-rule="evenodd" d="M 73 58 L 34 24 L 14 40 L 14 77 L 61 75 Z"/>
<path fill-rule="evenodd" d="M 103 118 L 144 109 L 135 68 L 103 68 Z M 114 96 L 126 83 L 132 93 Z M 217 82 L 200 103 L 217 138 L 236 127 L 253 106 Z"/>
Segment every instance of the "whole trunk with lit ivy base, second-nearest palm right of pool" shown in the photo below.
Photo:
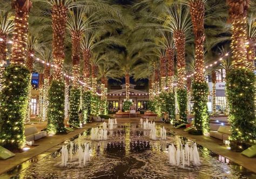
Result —
<path fill-rule="evenodd" d="M 193 25 L 194 43 L 196 45 L 196 75 L 192 85 L 194 96 L 194 121 L 197 134 L 204 134 L 210 130 L 210 118 L 207 111 L 208 86 L 204 80 L 204 16 L 205 1 L 190 1 L 190 14 Z M 191 131 L 193 133 L 193 131 Z"/>

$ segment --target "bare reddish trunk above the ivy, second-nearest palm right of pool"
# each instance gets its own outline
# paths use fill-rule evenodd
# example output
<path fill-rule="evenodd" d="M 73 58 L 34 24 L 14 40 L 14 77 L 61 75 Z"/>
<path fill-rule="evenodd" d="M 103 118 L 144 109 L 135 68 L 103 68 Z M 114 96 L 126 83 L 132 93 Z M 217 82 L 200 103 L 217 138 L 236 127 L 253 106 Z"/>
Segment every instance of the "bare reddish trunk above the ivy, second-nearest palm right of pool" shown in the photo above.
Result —
<path fill-rule="evenodd" d="M 204 82 L 204 15 L 205 3 L 203 0 L 195 0 L 190 3 L 190 14 L 193 24 L 194 41 L 196 44 L 196 75 L 195 82 Z"/>

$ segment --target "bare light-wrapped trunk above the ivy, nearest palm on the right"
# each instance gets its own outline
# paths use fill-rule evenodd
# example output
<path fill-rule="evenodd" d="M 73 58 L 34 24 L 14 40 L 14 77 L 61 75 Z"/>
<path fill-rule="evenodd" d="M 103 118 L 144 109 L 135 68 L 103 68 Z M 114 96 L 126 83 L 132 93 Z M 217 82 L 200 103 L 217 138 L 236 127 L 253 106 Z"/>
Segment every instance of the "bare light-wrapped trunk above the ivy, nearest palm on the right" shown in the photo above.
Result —
<path fill-rule="evenodd" d="M 232 23 L 232 58 L 235 68 L 245 68 L 248 65 L 247 61 L 247 10 L 249 0 L 227 0 Z"/>

